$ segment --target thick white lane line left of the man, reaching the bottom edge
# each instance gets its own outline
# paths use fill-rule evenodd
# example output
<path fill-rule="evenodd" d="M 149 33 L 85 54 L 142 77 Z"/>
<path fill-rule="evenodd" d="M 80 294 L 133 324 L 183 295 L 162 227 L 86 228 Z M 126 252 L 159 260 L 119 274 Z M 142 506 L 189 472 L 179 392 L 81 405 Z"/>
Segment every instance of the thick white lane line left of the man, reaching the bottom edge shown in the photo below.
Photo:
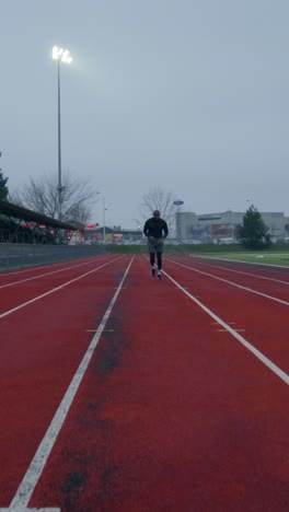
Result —
<path fill-rule="evenodd" d="M 111 304 L 108 305 L 101 323 L 100 323 L 100 326 L 95 333 L 95 335 L 93 336 L 92 340 L 91 340 L 91 344 L 51 420 L 51 423 L 50 426 L 48 427 L 47 431 L 46 431 L 46 434 L 44 435 L 28 468 L 27 468 L 27 472 L 26 474 L 24 475 L 23 477 L 23 480 L 22 482 L 20 484 L 19 488 L 18 488 L 18 491 L 10 504 L 10 508 L 9 510 L 10 511 L 14 511 L 14 512 L 20 512 L 20 511 L 23 511 L 27 508 L 27 504 L 28 504 L 28 501 L 32 497 L 32 493 L 41 478 L 41 475 L 43 473 L 43 469 L 47 463 L 47 459 L 48 459 L 48 456 L 54 447 L 54 444 L 57 440 L 57 437 L 60 432 L 60 429 L 66 420 L 66 417 L 68 415 L 68 411 L 69 411 L 69 408 L 72 404 L 72 400 L 78 392 L 78 388 L 81 384 L 81 381 L 84 376 L 84 373 L 88 369 L 88 365 L 91 361 L 91 358 L 94 353 L 94 350 L 99 344 L 99 340 L 100 340 L 100 337 L 102 335 L 102 331 L 107 323 L 107 319 L 112 313 L 112 310 L 114 307 L 114 304 L 117 300 L 117 296 L 122 290 L 122 287 L 123 287 L 123 283 L 127 277 L 127 274 L 130 269 L 130 266 L 132 264 L 132 260 L 134 260 L 135 256 L 132 256 L 132 258 L 130 259 L 129 261 L 129 265 L 125 271 L 125 275 L 111 301 Z M 38 509 L 36 509 L 38 510 Z"/>

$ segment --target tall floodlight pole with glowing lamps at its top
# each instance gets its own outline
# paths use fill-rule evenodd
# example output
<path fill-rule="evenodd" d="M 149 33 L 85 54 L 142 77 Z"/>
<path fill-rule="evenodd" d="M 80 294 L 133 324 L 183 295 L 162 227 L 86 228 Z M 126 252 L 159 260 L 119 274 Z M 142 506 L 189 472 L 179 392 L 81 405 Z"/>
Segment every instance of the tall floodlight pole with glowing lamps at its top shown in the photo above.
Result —
<path fill-rule="evenodd" d="M 60 62 L 70 65 L 72 57 L 69 50 L 54 46 L 53 59 L 57 60 L 57 98 L 58 98 L 58 220 L 61 221 L 62 217 L 62 177 L 61 177 L 61 109 L 60 109 Z"/>

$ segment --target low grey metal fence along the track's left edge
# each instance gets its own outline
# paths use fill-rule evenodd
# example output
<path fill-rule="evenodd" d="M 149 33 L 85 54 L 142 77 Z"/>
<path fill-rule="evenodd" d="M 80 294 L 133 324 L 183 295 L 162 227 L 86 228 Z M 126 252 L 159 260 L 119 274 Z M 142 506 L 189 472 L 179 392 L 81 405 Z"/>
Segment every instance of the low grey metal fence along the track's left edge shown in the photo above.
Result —
<path fill-rule="evenodd" d="M 96 245 L 0 244 L 0 272 L 88 258 L 104 253 L 105 247 Z"/>

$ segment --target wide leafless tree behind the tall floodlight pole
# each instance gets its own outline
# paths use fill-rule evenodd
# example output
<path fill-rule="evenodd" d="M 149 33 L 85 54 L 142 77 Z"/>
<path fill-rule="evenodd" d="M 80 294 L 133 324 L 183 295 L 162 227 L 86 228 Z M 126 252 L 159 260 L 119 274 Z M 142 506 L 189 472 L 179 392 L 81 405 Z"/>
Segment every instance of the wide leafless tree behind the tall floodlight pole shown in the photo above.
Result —
<path fill-rule="evenodd" d="M 30 178 L 23 189 L 11 194 L 18 205 L 45 216 L 57 217 L 58 213 L 58 177 L 46 174 L 38 178 Z M 85 223 L 91 216 L 91 206 L 96 198 L 96 189 L 89 181 L 73 177 L 67 171 L 62 175 L 61 220 L 78 220 Z"/>

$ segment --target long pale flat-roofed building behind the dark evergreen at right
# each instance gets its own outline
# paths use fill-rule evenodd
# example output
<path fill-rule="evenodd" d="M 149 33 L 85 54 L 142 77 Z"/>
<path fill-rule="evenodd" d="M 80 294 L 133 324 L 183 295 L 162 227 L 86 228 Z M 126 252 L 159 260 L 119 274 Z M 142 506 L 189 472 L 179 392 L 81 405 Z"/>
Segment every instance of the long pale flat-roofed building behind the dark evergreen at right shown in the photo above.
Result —
<path fill-rule="evenodd" d="M 282 212 L 259 212 L 269 229 L 271 242 L 285 241 L 289 235 L 289 218 Z M 234 238 L 235 229 L 243 224 L 245 212 L 228 210 L 220 213 L 176 212 L 176 238 L 219 243 Z"/>

